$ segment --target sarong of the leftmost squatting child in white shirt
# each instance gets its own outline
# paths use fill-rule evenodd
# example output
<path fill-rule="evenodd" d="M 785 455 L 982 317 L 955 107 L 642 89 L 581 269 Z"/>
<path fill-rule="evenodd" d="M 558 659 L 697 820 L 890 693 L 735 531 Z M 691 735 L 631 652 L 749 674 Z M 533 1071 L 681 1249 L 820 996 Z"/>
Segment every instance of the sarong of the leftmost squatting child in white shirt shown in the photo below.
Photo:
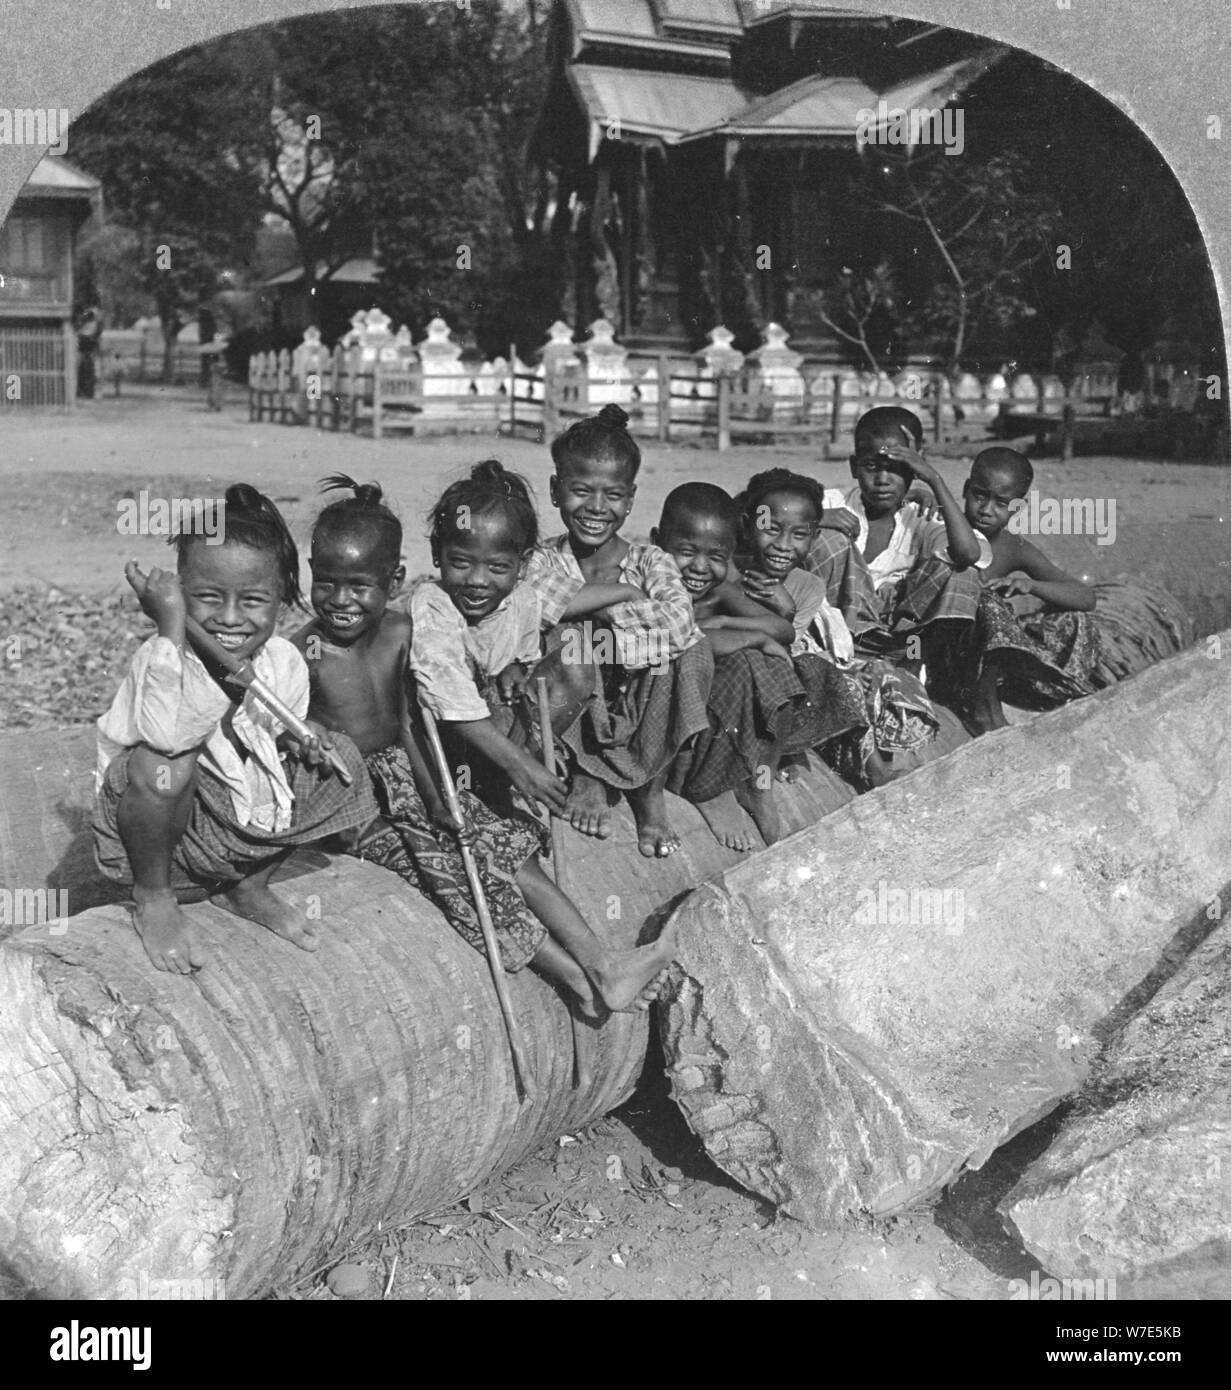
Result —
<path fill-rule="evenodd" d="M 235 824 L 231 791 L 215 777 L 197 769 L 188 828 L 171 859 L 171 887 L 176 891 L 236 883 L 283 849 L 308 845 L 329 835 L 358 830 L 377 816 L 377 802 L 358 749 L 345 734 L 331 734 L 333 748 L 345 760 L 353 787 L 336 776 L 321 777 L 299 760 L 288 760 L 286 771 L 295 796 L 289 828 L 263 834 Z M 125 749 L 107 766 L 94 798 L 94 859 L 114 883 L 131 884 L 132 869 L 117 827 L 119 798 L 128 787 Z"/>

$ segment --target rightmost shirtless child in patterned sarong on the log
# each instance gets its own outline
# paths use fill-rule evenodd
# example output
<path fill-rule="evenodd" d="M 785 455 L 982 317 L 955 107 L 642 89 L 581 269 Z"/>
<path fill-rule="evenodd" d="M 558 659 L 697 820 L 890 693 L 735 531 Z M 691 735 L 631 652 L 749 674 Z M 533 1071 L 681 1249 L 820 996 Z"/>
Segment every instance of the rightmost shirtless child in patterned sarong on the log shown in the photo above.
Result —
<path fill-rule="evenodd" d="M 963 488 L 966 518 L 991 545 L 980 566 L 978 620 L 959 648 L 956 694 L 973 734 L 1003 728 L 1006 698 L 1055 709 L 1089 695 L 1099 681 L 1095 591 L 1010 527 L 1034 468 L 1016 449 L 984 449 Z"/>

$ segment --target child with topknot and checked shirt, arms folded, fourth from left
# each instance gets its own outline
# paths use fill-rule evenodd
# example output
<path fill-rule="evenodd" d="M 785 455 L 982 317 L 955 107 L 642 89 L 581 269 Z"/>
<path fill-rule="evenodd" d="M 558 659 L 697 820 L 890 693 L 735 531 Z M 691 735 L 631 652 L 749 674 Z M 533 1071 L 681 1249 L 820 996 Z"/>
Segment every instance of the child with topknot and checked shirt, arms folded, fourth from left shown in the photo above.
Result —
<path fill-rule="evenodd" d="M 624 792 L 638 848 L 664 858 L 679 848 L 663 795 L 667 773 L 709 728 L 714 660 L 671 557 L 620 535 L 641 467 L 627 425 L 620 406 L 603 406 L 552 443 L 552 502 L 564 534 L 535 552 L 528 578 L 545 623 L 570 624 L 550 638 L 563 664 L 590 681 L 581 719 L 563 735 L 572 769 L 564 817 L 603 838 L 613 798 Z"/>

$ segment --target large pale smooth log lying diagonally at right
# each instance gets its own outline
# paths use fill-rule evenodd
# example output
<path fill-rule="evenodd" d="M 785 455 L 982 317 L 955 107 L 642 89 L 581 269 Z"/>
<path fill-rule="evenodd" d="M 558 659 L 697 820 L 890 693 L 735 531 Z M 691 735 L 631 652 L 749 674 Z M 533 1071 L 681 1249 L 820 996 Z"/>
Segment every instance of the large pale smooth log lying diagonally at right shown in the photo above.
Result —
<path fill-rule="evenodd" d="M 1188 652 L 695 892 L 660 1026 L 710 1156 L 811 1223 L 886 1215 L 1075 1091 L 1225 881 L 1228 695 Z"/>

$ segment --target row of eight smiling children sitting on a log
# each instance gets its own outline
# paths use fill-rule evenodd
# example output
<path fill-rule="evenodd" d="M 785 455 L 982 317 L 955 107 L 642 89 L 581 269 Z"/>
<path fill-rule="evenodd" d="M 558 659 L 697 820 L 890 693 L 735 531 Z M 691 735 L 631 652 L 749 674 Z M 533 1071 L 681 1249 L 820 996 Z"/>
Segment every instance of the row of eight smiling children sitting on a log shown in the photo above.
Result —
<path fill-rule="evenodd" d="M 621 534 L 641 467 L 627 424 L 606 406 L 553 442 L 563 531 L 547 539 L 525 481 L 475 466 L 432 507 L 438 573 L 408 594 L 381 488 L 325 480 L 346 495 L 313 527 L 313 619 L 293 639 L 275 628 L 300 603 L 295 541 L 247 485 L 226 492 L 224 543 L 176 537 L 174 574 L 129 564 L 157 632 L 99 720 L 94 834 L 156 966 L 204 963 L 179 909 L 192 897 L 314 949 L 315 926 L 270 887 L 313 841 L 393 870 L 484 949 L 465 845 L 506 969 L 532 966 L 581 1017 L 646 1008 L 670 934 L 607 947 L 543 872 L 540 808 L 604 838 L 622 794 L 641 852 L 663 858 L 679 847 L 670 790 L 750 849 L 778 838 L 774 785 L 809 756 L 879 785 L 935 735 L 939 695 L 982 733 L 1005 721 L 1002 696 L 1046 708 L 1092 688 L 1093 591 L 1007 527 L 1031 486 L 1023 455 L 984 450 L 959 502 L 923 457 L 918 420 L 878 407 L 856 427 L 850 493 L 785 468 L 738 498 L 686 482 L 641 543 Z M 1018 612 L 1024 596 L 1034 612 Z M 188 619 L 250 660 L 313 737 L 199 655 Z M 464 826 L 424 710 L 465 770 Z"/>

